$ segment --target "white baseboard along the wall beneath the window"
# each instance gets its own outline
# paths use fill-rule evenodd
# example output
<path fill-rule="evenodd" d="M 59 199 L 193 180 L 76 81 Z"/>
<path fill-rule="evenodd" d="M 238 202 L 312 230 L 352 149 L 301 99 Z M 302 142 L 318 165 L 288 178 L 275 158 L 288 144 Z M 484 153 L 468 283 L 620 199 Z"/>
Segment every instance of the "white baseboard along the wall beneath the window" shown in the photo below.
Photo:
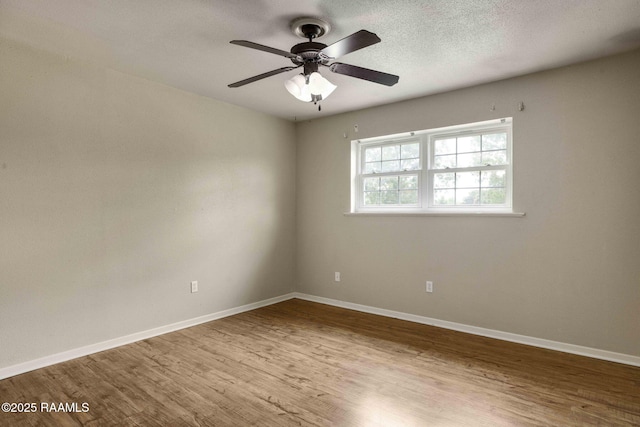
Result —
<path fill-rule="evenodd" d="M 583 347 L 574 344 L 566 344 L 558 341 L 550 341 L 541 338 L 529 337 L 526 335 L 512 334 L 509 332 L 496 331 L 494 329 L 479 328 L 477 326 L 465 325 L 462 323 L 449 322 L 446 320 L 433 319 L 431 317 L 417 316 L 399 311 L 386 310 L 383 308 L 370 307 L 367 305 L 344 302 L 330 298 L 317 297 L 314 295 L 295 292 L 294 298 L 318 302 L 321 304 L 333 305 L 336 307 L 348 308 L 350 310 L 362 311 L 364 313 L 377 314 L 379 316 L 393 317 L 410 322 L 422 323 L 424 325 L 437 326 L 439 328 L 451 329 L 454 331 L 466 332 L 468 334 L 480 335 L 483 337 L 496 338 L 503 341 L 511 341 L 519 344 L 531 345 L 534 347 L 546 348 L 549 350 L 562 351 L 564 353 L 577 354 L 580 356 L 602 359 L 610 362 L 623 363 L 625 365 L 640 366 L 640 357 L 630 354 L 616 353 L 613 351 L 600 350 L 597 348 Z"/>

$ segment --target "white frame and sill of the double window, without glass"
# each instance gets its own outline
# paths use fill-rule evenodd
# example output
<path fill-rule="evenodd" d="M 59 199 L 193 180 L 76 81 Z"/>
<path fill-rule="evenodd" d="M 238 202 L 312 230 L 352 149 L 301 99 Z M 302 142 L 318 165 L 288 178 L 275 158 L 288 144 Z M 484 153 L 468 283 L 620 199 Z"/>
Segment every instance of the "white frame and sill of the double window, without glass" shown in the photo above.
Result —
<path fill-rule="evenodd" d="M 476 166 L 469 168 L 434 169 L 434 141 L 443 136 L 458 137 L 471 136 L 482 133 L 506 132 L 507 134 L 507 164 L 500 166 Z M 469 213 L 513 213 L 513 130 L 512 118 L 488 120 L 478 123 L 448 126 L 438 129 L 407 132 L 351 141 L 351 213 L 380 213 L 380 214 L 469 214 Z M 417 141 L 420 143 L 420 167 L 412 171 L 364 173 L 364 151 L 371 146 L 402 144 Z M 435 205 L 434 174 L 438 172 L 460 172 L 504 169 L 505 170 L 505 203 L 503 205 Z M 396 176 L 404 174 L 418 175 L 418 203 L 416 205 L 387 205 L 365 206 L 364 179 L 371 176 Z"/>

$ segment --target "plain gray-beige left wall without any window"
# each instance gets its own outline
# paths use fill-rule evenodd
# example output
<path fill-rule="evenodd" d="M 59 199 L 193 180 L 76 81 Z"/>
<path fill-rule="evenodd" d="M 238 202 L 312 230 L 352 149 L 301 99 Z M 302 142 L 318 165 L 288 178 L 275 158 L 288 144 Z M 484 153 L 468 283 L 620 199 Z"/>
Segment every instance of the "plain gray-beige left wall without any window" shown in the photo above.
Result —
<path fill-rule="evenodd" d="M 292 123 L 0 58 L 0 367 L 293 290 Z"/>

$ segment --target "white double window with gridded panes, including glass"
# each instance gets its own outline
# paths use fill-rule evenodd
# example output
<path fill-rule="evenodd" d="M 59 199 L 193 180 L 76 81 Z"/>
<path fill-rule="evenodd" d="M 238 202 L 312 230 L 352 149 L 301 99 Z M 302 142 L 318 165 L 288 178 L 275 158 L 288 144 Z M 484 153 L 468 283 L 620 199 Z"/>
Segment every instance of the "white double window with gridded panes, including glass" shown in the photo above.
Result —
<path fill-rule="evenodd" d="M 353 212 L 511 212 L 511 118 L 352 144 Z"/>

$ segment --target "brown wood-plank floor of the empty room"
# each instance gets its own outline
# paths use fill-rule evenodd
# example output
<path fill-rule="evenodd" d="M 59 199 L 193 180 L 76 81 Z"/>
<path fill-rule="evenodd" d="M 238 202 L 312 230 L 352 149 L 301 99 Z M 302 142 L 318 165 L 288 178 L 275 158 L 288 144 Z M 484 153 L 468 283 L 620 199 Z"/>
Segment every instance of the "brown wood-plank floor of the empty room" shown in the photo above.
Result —
<path fill-rule="evenodd" d="M 0 396 L 78 403 L 2 426 L 640 425 L 640 368 L 301 300 L 8 378 Z"/>

